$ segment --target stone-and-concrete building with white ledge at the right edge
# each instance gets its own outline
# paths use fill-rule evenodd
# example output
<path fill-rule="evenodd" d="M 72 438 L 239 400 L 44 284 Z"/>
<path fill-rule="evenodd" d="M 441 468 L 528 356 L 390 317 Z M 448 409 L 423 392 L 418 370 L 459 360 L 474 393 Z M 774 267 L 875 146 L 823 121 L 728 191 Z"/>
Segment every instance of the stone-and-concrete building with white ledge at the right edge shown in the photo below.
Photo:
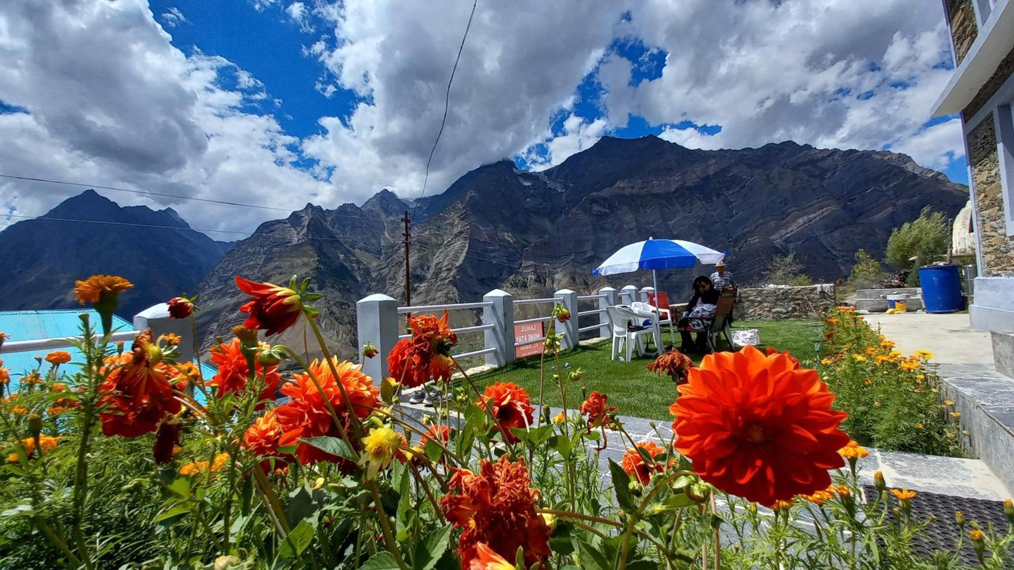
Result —
<path fill-rule="evenodd" d="M 943 0 L 954 76 L 935 116 L 960 114 L 979 277 L 972 327 L 1014 332 L 1014 0 Z M 995 335 L 1010 338 L 1010 335 Z"/>

